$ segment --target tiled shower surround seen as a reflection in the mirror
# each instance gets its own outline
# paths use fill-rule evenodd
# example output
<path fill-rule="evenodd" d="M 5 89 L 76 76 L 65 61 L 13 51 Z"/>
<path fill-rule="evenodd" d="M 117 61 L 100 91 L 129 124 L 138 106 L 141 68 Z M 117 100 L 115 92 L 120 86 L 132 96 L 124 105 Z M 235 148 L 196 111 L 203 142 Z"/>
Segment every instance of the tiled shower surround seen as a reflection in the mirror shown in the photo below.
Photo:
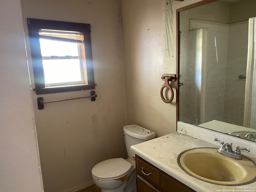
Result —
<path fill-rule="evenodd" d="M 196 125 L 219 120 L 240 126 L 245 126 L 248 119 L 249 124 L 252 121 L 249 110 L 254 106 L 250 107 L 248 93 L 252 83 L 246 86 L 252 77 L 248 74 L 252 70 L 246 72 L 246 68 L 249 62 L 253 65 L 253 49 L 249 48 L 251 61 L 247 60 L 248 21 L 225 24 L 190 19 L 188 32 L 182 34 L 180 42 L 181 46 L 187 45 L 184 51 L 187 56 L 180 61 L 180 74 L 186 77 L 180 78 L 186 85 L 180 88 L 184 96 L 180 98 L 180 108 L 185 109 L 180 119 Z"/>

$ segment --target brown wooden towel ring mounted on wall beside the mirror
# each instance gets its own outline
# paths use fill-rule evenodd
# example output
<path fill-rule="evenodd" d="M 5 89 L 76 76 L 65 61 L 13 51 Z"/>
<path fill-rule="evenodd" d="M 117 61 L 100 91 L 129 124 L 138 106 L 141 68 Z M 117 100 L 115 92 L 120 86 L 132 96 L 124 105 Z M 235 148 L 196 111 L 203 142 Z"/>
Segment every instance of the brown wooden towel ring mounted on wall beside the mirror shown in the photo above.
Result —
<path fill-rule="evenodd" d="M 161 78 L 164 80 L 164 85 L 162 86 L 162 88 L 160 90 L 160 96 L 161 96 L 163 102 L 170 103 L 170 102 L 172 102 L 172 100 L 174 98 L 174 92 L 173 92 L 172 87 L 169 84 L 169 81 L 176 81 L 176 74 L 163 74 Z M 169 100 L 166 100 L 164 98 L 164 95 L 163 95 L 164 88 L 169 89 L 171 92 L 171 98 Z"/>

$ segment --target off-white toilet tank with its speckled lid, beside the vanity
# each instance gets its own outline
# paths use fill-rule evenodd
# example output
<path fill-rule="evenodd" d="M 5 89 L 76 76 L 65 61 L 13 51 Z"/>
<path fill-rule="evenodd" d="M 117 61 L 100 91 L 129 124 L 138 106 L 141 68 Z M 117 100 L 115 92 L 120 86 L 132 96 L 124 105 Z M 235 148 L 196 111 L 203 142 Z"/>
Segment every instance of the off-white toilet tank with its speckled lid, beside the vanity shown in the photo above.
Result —
<path fill-rule="evenodd" d="M 130 149 L 132 145 L 154 139 L 155 137 L 155 132 L 140 127 L 138 125 L 124 126 L 124 141 L 129 158 L 132 159 L 132 156 L 134 156 L 134 153 L 132 153 Z"/>

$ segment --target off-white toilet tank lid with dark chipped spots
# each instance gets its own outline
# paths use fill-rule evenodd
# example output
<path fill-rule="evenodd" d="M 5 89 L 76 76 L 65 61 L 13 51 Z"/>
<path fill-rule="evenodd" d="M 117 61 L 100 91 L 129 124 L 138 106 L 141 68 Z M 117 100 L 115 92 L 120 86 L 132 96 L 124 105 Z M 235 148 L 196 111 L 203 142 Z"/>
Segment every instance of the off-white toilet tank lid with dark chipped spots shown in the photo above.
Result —
<path fill-rule="evenodd" d="M 143 140 L 150 140 L 156 137 L 155 132 L 138 125 L 126 125 L 124 126 L 124 132 L 132 137 Z"/>

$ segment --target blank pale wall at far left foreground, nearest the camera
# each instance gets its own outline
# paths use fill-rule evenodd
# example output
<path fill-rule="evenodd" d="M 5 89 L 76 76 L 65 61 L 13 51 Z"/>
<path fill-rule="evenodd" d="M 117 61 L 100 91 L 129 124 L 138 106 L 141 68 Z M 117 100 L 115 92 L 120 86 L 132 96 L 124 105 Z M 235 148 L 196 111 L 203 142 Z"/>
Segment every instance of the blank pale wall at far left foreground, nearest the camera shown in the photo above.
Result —
<path fill-rule="evenodd" d="M 42 192 L 20 0 L 0 6 L 0 191 Z"/>

